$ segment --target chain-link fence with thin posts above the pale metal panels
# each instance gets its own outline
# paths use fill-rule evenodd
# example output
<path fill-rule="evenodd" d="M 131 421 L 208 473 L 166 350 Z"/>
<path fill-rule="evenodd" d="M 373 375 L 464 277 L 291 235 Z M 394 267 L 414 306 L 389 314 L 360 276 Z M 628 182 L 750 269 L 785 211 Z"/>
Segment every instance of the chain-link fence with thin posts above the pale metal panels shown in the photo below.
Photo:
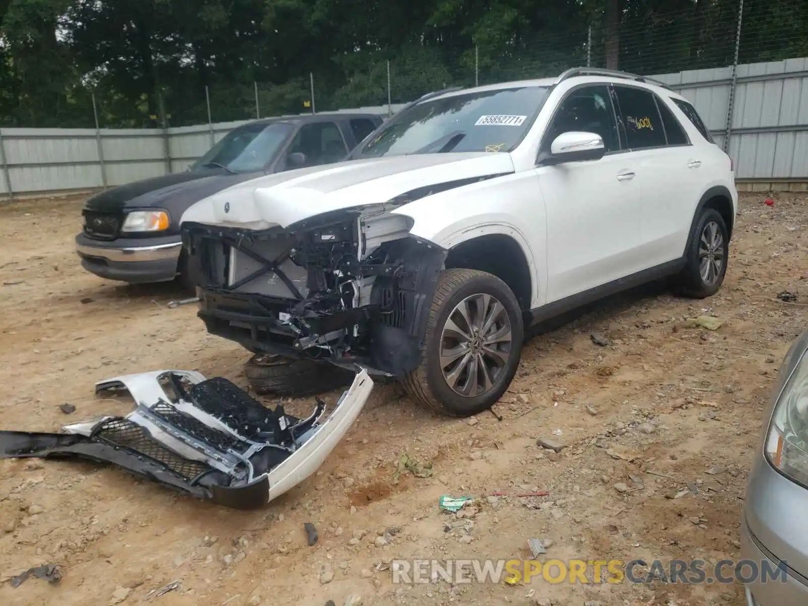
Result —
<path fill-rule="evenodd" d="M 77 86 L 46 119 L 34 111 L 36 99 L 26 99 L 15 116 L 0 119 L 0 126 L 189 126 L 387 106 L 448 86 L 541 78 L 580 65 L 668 74 L 808 56 L 803 31 L 808 2 L 795 8 L 787 0 L 745 1 L 699 2 L 695 8 L 661 14 L 632 3 L 615 27 L 600 17 L 571 29 L 565 24 L 557 35 L 514 35 L 504 43 L 482 39 L 473 44 L 469 38 L 468 46 L 459 49 L 424 43 L 405 44 L 395 52 L 360 50 L 286 82 L 164 82 L 134 104 L 109 90 Z M 632 15 L 631 10 L 642 14 Z"/>

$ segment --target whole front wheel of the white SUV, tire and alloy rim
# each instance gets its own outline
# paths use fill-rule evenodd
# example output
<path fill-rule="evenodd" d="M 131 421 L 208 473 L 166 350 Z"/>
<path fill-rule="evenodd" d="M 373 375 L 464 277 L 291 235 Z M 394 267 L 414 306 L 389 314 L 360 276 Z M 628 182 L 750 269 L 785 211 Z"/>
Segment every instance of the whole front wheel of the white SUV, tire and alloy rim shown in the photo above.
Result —
<path fill-rule="evenodd" d="M 440 273 L 421 363 L 403 380 L 410 395 L 449 415 L 476 415 L 511 384 L 524 339 L 511 289 L 485 271 Z"/>

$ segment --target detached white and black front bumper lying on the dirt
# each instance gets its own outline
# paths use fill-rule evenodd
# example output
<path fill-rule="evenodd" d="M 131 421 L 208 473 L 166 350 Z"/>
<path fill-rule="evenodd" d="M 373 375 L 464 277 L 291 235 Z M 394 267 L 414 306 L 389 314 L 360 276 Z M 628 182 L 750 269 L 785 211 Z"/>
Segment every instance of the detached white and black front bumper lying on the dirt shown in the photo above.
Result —
<path fill-rule="evenodd" d="M 356 420 L 373 382 L 364 370 L 322 419 L 318 400 L 297 419 L 270 410 L 232 382 L 180 370 L 100 381 L 96 393 L 128 391 L 135 410 L 64 427 L 62 433 L 0 431 L 0 458 L 81 457 L 213 503 L 250 509 L 318 469 Z"/>

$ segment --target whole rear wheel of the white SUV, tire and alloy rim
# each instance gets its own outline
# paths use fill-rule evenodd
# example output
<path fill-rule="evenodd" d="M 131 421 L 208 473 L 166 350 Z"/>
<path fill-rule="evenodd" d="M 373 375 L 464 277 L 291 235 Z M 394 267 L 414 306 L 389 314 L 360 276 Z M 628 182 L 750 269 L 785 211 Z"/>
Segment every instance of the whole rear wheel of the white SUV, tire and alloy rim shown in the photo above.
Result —
<path fill-rule="evenodd" d="M 730 255 L 730 232 L 721 213 L 705 208 L 688 242 L 685 266 L 678 276 L 680 291 L 688 297 L 712 297 L 721 288 Z"/>

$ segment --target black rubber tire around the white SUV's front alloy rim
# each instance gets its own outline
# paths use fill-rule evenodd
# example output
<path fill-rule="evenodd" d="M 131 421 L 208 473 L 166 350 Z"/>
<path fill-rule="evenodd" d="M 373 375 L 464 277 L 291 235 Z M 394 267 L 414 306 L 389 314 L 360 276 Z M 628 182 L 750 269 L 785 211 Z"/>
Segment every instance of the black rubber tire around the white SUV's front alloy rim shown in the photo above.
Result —
<path fill-rule="evenodd" d="M 452 389 L 448 385 L 447 379 L 444 378 L 444 371 L 440 364 L 440 349 L 444 339 L 444 327 L 450 315 L 454 313 L 457 305 L 475 295 L 491 295 L 503 306 L 504 314 L 507 314 L 507 322 L 510 323 L 511 341 L 510 349 L 507 351 L 507 360 L 502 367 L 495 371 L 497 373 L 495 378 L 489 373 L 493 379 L 491 381 L 493 386 L 476 396 L 465 396 Z M 503 326 L 505 325 L 503 324 Z M 519 366 L 523 341 L 522 312 L 519 302 L 516 301 L 516 297 L 507 284 L 485 271 L 444 270 L 440 274 L 435 297 L 432 299 L 426 338 L 423 340 L 421 351 L 421 364 L 406 375 L 402 379 L 402 383 L 412 398 L 437 412 L 457 417 L 477 415 L 494 406 L 508 385 L 511 385 L 516 368 Z M 477 346 L 479 344 L 478 339 Z M 461 364 L 464 359 L 465 357 L 458 359 L 457 364 Z M 454 370 L 457 366 L 453 366 L 453 364 L 448 364 L 446 368 Z M 470 381 L 470 370 L 465 372 L 467 381 Z M 460 377 L 463 376 L 461 372 Z M 475 373 L 475 377 L 479 377 L 478 372 Z M 478 385 L 478 381 L 475 382 L 475 385 Z M 469 393 L 472 392 L 469 391 Z"/>

